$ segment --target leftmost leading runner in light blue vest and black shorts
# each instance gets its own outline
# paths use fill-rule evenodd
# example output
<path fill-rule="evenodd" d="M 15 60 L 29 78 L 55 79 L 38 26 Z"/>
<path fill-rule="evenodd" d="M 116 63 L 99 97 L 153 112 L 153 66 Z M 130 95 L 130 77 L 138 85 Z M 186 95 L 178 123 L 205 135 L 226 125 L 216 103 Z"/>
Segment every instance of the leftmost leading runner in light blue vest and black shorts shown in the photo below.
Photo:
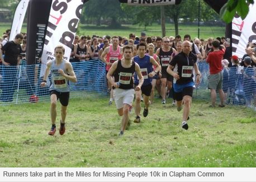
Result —
<path fill-rule="evenodd" d="M 50 99 L 51 99 L 51 130 L 49 131 L 49 135 L 54 135 L 56 132 L 56 103 L 57 100 L 60 99 L 61 103 L 61 119 L 60 119 L 60 128 L 59 133 L 63 135 L 65 133 L 65 119 L 67 116 L 67 108 L 69 102 L 69 83 L 77 82 L 77 78 L 73 71 L 71 63 L 63 60 L 63 56 L 65 53 L 65 49 L 63 46 L 56 46 L 54 49 L 55 60 L 49 61 L 47 63 L 47 67 L 45 70 L 44 80 L 40 84 L 41 87 L 45 87 L 46 79 L 51 73 L 51 85 L 50 85 Z"/>

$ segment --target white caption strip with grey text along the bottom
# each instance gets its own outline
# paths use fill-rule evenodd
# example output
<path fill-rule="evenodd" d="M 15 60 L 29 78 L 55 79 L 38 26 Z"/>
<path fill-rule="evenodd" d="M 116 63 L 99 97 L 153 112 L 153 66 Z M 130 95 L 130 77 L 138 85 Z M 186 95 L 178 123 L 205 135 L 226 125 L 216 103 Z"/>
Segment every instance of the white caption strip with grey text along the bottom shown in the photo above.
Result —
<path fill-rule="evenodd" d="M 0 168 L 1 181 L 248 181 L 255 182 L 255 168 L 244 167 L 27 167 Z"/>

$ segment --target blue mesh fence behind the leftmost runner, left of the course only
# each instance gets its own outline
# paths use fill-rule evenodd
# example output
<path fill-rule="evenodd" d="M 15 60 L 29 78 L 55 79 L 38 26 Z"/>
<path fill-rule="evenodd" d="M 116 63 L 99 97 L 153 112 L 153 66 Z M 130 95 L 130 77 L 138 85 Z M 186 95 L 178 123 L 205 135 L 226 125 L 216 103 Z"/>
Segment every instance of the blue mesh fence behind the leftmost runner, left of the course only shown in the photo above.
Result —
<path fill-rule="evenodd" d="M 103 96 L 107 94 L 105 64 L 99 60 L 72 63 L 77 82 L 69 81 L 71 97 Z M 45 64 L 0 66 L 0 105 L 49 100 L 50 79 L 40 87 Z M 49 75 L 50 78 L 50 75 Z"/>

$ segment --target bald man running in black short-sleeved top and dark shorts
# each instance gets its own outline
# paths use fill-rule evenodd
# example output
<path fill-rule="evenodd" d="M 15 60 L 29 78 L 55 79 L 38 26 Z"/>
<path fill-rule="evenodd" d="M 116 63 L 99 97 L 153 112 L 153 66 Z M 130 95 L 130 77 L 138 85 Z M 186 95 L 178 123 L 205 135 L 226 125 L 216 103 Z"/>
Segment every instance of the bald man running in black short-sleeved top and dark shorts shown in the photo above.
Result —
<path fill-rule="evenodd" d="M 188 115 L 192 103 L 193 69 L 195 69 L 196 73 L 196 83 L 200 83 L 201 75 L 196 61 L 197 57 L 191 52 L 190 42 L 184 41 L 182 43 L 182 52 L 174 56 L 167 68 L 167 72 L 174 77 L 173 88 L 177 101 L 177 110 L 181 111 L 182 104 L 184 105 L 182 117 L 182 128 L 184 130 L 188 130 L 187 120 L 189 119 Z"/>

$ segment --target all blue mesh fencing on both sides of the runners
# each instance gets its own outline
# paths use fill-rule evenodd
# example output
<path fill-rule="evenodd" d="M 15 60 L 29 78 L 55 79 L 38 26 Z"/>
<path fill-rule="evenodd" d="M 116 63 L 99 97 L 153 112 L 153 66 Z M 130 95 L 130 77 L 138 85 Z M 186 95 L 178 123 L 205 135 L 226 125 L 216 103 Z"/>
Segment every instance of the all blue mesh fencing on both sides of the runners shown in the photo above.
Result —
<path fill-rule="evenodd" d="M 99 60 L 72 63 L 77 83 L 69 82 L 72 97 L 101 97 L 107 95 L 105 64 Z M 209 66 L 200 61 L 201 83 L 195 88 L 193 99 L 205 99 L 210 102 L 208 90 Z M 0 105 L 49 100 L 49 86 L 40 87 L 45 71 L 44 64 L 19 66 L 0 66 Z M 234 106 L 256 106 L 256 70 L 242 67 L 227 68 L 223 71 L 223 89 L 226 104 Z"/>

